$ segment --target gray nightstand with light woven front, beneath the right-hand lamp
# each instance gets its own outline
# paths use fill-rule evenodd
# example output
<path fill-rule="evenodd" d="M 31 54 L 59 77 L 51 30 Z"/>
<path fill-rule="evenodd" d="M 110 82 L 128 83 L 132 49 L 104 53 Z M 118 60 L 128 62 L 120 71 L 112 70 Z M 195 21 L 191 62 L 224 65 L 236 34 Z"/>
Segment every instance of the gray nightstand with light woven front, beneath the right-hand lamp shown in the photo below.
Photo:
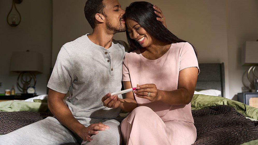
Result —
<path fill-rule="evenodd" d="M 256 92 L 238 93 L 237 98 L 239 102 L 258 108 L 258 93 Z"/>

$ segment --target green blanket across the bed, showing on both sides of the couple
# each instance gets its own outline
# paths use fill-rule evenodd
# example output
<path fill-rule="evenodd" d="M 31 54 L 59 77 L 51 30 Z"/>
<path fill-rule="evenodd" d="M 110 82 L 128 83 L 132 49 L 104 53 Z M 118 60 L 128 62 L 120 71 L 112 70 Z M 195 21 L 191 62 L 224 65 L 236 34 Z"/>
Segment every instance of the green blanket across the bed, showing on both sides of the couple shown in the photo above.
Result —
<path fill-rule="evenodd" d="M 258 109 L 238 101 L 226 99 L 217 96 L 193 95 L 191 101 L 192 110 L 199 110 L 204 107 L 228 105 L 233 106 L 236 111 L 243 114 L 251 120 L 258 120 Z M 15 111 L 32 111 L 32 112 L 47 112 L 50 113 L 45 100 L 34 100 L 34 102 L 25 101 L 2 101 L 0 102 L 0 111 L 15 112 Z"/>

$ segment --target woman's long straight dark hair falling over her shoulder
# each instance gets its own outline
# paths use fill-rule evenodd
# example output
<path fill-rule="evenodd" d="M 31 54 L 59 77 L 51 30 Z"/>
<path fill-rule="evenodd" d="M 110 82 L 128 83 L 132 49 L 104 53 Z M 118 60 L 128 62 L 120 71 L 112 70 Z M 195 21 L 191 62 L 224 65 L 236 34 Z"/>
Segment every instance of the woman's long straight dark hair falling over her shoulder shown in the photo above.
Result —
<path fill-rule="evenodd" d="M 160 21 L 157 21 L 156 17 L 157 15 L 154 13 L 153 5 L 149 2 L 133 2 L 126 7 L 124 14 L 125 20 L 128 18 L 134 20 L 144 28 L 149 35 L 158 41 L 170 44 L 187 42 L 171 33 Z M 131 47 L 130 51 L 142 48 L 136 40 L 130 38 L 128 31 L 126 31 L 126 37 Z M 197 56 L 197 51 L 194 46 L 193 49 Z"/>

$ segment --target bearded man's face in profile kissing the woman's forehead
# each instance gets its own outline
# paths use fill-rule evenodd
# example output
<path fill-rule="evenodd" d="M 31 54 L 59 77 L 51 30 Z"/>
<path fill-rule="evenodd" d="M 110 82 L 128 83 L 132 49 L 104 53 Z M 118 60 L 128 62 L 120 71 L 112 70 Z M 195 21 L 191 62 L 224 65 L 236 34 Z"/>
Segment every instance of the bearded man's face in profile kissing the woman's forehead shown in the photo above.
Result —
<path fill-rule="evenodd" d="M 117 0 L 103 0 L 105 4 L 104 14 L 106 15 L 106 28 L 114 33 L 125 32 L 125 21 L 123 15 L 125 11 Z"/>

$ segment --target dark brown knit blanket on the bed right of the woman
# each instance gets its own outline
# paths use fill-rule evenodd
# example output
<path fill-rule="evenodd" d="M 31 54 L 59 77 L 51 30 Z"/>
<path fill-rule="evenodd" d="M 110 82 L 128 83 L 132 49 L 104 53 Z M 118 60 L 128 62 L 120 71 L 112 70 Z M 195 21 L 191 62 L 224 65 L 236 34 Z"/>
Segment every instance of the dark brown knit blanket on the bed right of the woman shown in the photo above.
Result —
<path fill-rule="evenodd" d="M 192 115 L 197 129 L 193 145 L 239 145 L 258 139 L 258 121 L 246 119 L 232 106 L 192 110 Z"/>

